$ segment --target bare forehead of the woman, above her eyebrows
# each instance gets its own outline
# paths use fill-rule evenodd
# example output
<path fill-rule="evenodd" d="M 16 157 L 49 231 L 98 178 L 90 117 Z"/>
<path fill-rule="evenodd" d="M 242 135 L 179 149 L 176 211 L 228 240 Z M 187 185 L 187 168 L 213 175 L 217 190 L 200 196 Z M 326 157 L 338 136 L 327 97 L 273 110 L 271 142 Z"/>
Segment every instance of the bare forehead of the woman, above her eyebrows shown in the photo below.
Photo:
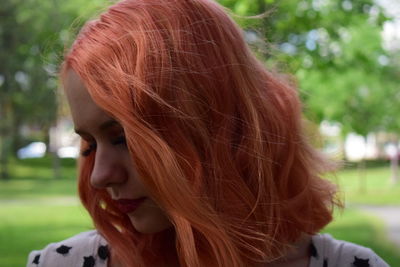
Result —
<path fill-rule="evenodd" d="M 75 128 L 97 128 L 99 124 L 111 118 L 93 101 L 82 79 L 74 70 L 67 70 L 63 84 Z"/>

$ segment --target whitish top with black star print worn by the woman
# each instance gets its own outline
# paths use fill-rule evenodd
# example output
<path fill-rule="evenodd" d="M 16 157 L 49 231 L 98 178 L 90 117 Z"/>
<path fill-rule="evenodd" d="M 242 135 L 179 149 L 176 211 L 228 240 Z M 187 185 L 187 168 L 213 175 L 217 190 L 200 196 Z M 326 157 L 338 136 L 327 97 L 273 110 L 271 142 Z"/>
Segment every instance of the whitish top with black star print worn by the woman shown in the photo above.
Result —
<path fill-rule="evenodd" d="M 309 267 L 389 267 L 371 249 L 333 239 L 312 237 Z M 27 267 L 107 267 L 108 246 L 95 230 L 83 232 L 29 254 Z"/>

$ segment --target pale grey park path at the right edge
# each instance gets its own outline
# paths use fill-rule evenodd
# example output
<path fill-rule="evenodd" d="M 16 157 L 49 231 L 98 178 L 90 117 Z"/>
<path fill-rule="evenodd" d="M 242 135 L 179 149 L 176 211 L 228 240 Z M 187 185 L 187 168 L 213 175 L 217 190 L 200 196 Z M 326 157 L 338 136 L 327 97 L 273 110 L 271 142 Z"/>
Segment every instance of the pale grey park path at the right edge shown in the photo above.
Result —
<path fill-rule="evenodd" d="M 361 211 L 381 219 L 386 225 L 389 240 L 400 250 L 400 206 L 357 206 Z"/>

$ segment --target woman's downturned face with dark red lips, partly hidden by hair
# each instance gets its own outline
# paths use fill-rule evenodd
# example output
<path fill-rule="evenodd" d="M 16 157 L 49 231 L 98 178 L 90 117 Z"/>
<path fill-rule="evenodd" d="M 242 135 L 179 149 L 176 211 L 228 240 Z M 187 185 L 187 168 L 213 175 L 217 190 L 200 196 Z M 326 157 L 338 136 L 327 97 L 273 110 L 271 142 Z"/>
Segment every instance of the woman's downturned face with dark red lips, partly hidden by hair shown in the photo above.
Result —
<path fill-rule="evenodd" d="M 90 177 L 93 187 L 106 189 L 119 209 L 141 233 L 156 233 L 171 227 L 165 212 L 141 183 L 125 142 L 124 129 L 97 106 L 80 77 L 72 69 L 64 80 L 75 131 L 88 144 L 82 156 L 94 154 Z"/>

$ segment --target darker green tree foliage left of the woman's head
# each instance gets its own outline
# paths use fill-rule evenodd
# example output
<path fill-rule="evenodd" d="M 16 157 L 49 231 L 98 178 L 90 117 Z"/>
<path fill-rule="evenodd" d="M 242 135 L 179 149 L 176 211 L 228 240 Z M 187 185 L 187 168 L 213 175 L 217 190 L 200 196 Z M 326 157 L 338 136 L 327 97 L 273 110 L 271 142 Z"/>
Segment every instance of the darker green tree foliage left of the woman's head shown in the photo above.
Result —
<path fill-rule="evenodd" d="M 7 0 L 0 5 L 0 178 L 8 177 L 8 158 L 21 146 L 23 125 L 42 129 L 41 138 L 48 139 L 57 121 L 57 68 L 71 24 L 80 26 L 105 2 Z"/>

